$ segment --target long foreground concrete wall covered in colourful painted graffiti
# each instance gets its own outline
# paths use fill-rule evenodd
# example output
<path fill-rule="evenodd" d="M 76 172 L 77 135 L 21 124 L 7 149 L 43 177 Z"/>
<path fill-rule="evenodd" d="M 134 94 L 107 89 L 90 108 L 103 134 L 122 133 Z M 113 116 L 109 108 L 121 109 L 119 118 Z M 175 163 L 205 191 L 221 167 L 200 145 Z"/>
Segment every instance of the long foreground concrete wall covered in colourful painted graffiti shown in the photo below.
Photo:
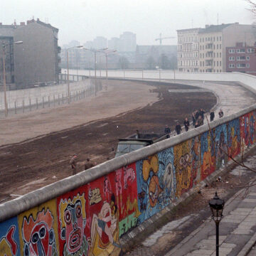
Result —
<path fill-rule="evenodd" d="M 255 144 L 255 125 L 252 106 L 0 205 L 0 255 L 119 255 L 122 236 Z"/>

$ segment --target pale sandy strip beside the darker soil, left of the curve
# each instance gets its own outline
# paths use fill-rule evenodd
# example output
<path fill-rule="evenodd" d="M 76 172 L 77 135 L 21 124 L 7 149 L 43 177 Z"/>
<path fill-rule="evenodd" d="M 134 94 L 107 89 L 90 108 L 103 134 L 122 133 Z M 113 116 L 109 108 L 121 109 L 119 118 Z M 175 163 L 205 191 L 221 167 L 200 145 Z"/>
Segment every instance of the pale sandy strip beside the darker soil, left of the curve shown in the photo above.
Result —
<path fill-rule="evenodd" d="M 150 92 L 150 89 L 153 88 L 138 82 L 112 81 L 108 90 L 103 90 L 96 97 L 1 119 L 0 145 L 22 142 L 144 107 L 158 100 L 157 93 Z"/>

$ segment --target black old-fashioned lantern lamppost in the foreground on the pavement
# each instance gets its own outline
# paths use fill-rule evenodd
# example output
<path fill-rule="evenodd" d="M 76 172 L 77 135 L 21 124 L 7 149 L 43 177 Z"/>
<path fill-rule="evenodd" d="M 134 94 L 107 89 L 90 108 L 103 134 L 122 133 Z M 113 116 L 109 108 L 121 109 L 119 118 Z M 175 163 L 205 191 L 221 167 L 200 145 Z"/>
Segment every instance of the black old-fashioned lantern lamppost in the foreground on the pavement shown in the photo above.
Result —
<path fill-rule="evenodd" d="M 216 256 L 219 255 L 219 224 L 223 218 L 223 208 L 225 202 L 218 197 L 217 192 L 212 200 L 209 201 L 210 210 L 212 211 L 212 218 L 216 225 Z"/>

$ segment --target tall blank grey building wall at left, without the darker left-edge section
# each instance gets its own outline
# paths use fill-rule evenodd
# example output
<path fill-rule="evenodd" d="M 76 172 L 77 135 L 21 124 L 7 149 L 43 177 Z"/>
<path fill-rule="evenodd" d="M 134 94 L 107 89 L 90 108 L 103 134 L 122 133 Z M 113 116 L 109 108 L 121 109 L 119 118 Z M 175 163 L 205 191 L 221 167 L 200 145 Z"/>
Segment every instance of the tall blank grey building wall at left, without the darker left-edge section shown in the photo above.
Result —
<path fill-rule="evenodd" d="M 14 41 L 23 41 L 14 48 L 16 87 L 58 82 L 58 28 L 32 19 L 15 29 Z"/>

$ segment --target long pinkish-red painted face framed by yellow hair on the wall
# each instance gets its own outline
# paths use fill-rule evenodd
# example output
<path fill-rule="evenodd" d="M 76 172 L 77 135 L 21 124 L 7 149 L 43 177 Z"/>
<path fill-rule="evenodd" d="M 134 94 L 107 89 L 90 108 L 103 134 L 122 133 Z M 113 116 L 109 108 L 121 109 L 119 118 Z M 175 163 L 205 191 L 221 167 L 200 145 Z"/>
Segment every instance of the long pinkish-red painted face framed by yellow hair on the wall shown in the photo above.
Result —
<path fill-rule="evenodd" d="M 75 204 L 68 204 L 64 214 L 67 247 L 73 253 L 78 251 L 82 245 L 83 220 L 81 201 L 78 200 Z"/>

